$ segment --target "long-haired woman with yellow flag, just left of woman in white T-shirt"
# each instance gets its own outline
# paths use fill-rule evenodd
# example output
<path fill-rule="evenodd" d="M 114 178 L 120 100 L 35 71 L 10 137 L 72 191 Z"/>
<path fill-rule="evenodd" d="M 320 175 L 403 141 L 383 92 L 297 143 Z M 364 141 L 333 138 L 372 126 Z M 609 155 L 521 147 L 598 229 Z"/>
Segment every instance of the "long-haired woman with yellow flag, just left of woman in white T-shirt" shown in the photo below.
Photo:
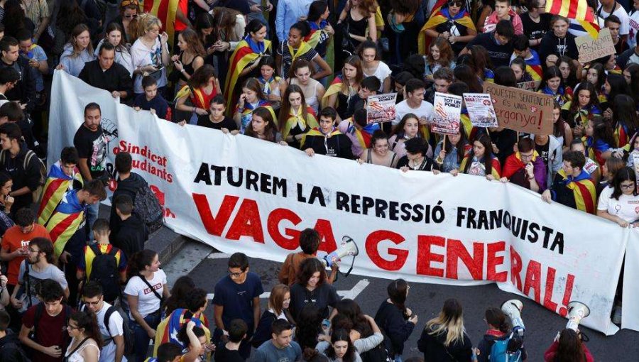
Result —
<path fill-rule="evenodd" d="M 364 79 L 361 69 L 361 59 L 351 55 L 344 61 L 342 76 L 335 77 L 329 89 L 322 97 L 322 108 L 332 106 L 337 109 L 340 119 L 347 119 L 353 115 L 355 103 L 359 99 L 359 84 Z"/>

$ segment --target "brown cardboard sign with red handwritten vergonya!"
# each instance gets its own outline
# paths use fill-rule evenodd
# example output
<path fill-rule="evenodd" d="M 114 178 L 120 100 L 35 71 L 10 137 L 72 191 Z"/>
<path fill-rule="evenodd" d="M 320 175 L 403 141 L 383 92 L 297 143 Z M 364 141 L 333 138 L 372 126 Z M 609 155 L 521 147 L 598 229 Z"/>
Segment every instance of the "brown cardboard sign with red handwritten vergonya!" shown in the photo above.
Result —
<path fill-rule="evenodd" d="M 484 82 L 499 126 L 533 134 L 552 134 L 552 96 Z"/>

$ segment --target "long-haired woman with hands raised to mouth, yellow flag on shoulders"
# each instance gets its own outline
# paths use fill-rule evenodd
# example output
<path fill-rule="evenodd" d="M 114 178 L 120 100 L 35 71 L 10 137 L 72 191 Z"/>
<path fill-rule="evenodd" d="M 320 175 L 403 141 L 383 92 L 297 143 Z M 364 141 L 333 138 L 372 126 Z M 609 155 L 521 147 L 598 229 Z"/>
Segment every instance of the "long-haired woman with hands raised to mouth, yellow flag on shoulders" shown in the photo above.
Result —
<path fill-rule="evenodd" d="M 300 148 L 305 133 L 320 126 L 313 109 L 306 105 L 302 89 L 295 84 L 284 92 L 279 124 L 284 141 L 295 148 Z"/>

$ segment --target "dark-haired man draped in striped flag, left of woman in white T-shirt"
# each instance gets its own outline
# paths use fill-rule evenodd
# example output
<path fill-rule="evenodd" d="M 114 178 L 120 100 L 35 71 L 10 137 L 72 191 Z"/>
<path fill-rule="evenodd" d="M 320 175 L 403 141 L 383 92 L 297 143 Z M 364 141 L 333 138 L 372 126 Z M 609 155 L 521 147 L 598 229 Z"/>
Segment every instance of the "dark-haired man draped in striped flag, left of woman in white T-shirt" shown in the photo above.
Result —
<path fill-rule="evenodd" d="M 594 214 L 597 200 L 593 180 L 586 170 L 586 157 L 576 151 L 564 154 L 562 169 L 555 175 L 552 187 L 542 193 L 542 200 L 559 202 L 567 207 Z"/>

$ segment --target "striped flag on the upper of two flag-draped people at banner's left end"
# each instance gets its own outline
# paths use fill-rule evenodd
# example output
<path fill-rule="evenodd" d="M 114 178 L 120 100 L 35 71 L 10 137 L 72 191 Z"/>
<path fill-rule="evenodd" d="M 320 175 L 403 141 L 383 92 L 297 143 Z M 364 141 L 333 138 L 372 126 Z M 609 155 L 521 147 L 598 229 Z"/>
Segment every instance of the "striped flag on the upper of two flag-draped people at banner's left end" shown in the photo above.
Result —
<path fill-rule="evenodd" d="M 47 182 L 42 192 L 40 208 L 38 209 L 38 224 L 44 225 L 49 220 L 55 207 L 57 207 L 60 200 L 62 200 L 62 196 L 69 190 L 73 180 L 80 182 L 80 185 L 83 183 L 82 175 L 77 168 L 73 170 L 72 176 L 68 176 L 62 171 L 62 168 L 60 168 L 60 161 L 51 165 Z"/>

